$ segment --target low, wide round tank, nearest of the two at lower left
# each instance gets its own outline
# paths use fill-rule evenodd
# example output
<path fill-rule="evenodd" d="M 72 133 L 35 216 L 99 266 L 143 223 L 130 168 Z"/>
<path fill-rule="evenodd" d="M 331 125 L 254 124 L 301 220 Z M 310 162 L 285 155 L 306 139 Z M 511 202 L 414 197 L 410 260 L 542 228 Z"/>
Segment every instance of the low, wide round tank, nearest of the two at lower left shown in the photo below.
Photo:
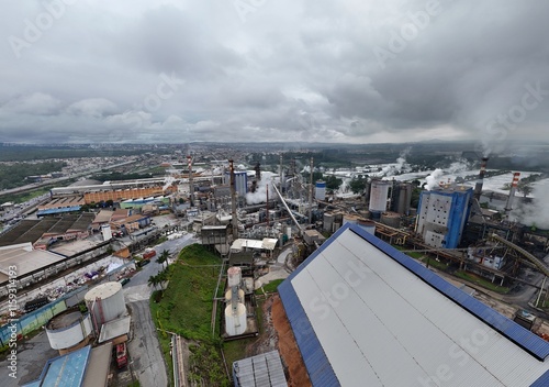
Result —
<path fill-rule="evenodd" d="M 49 345 L 59 355 L 88 345 L 92 332 L 91 314 L 82 314 L 78 308 L 67 309 L 46 323 Z"/>

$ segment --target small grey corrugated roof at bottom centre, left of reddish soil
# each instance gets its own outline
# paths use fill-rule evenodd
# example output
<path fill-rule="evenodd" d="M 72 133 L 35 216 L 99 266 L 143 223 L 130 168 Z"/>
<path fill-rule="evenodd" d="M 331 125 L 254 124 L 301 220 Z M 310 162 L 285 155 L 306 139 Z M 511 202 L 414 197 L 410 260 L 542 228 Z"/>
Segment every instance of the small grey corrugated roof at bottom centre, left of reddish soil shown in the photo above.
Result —
<path fill-rule="evenodd" d="M 284 368 L 278 351 L 233 363 L 235 384 L 240 387 L 287 387 Z"/>

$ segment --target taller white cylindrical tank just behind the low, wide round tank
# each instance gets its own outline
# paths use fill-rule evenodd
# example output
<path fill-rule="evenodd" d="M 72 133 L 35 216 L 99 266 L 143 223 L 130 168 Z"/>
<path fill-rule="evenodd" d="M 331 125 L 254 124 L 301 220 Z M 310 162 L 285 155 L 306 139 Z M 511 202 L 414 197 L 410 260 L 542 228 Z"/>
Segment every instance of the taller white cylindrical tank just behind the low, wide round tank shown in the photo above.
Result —
<path fill-rule="evenodd" d="M 89 290 L 83 299 L 88 310 L 92 313 L 92 322 L 98 329 L 101 324 L 117 319 L 126 312 L 124 292 L 120 283 L 98 285 Z"/>

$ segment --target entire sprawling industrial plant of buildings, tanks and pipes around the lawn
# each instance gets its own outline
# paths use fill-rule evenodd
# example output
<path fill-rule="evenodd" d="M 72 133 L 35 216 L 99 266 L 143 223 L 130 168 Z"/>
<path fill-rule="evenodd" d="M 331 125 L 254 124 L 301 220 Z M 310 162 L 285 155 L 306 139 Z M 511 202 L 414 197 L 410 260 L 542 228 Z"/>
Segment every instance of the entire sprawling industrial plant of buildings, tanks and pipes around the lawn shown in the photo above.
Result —
<path fill-rule="evenodd" d="M 221 262 L 215 288 L 195 289 L 213 339 L 269 338 L 223 360 L 234 386 L 549 386 L 549 231 L 524 222 L 539 199 L 517 195 L 524 172 L 490 174 L 488 157 L 461 174 L 269 159 L 176 152 L 155 159 L 161 176 L 82 178 L 4 202 L 0 344 L 44 331 L 55 351 L 24 385 L 130 385 L 148 367 L 139 351 L 153 351 L 135 342 L 160 334 L 169 383 L 200 385 L 188 332 L 136 331 L 157 318 L 132 307 L 169 289 L 155 274 L 186 265 L 192 242 Z M 486 189 L 492 176 L 508 191 Z"/>

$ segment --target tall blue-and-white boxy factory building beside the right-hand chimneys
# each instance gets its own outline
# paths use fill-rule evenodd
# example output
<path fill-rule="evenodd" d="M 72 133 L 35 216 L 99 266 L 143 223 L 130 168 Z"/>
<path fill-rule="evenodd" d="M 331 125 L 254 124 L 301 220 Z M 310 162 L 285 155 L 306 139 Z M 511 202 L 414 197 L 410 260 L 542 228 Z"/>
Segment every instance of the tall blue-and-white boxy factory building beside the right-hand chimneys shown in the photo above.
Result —
<path fill-rule="evenodd" d="M 472 188 L 463 186 L 423 191 L 415 231 L 433 247 L 458 247 L 471 207 Z"/>

